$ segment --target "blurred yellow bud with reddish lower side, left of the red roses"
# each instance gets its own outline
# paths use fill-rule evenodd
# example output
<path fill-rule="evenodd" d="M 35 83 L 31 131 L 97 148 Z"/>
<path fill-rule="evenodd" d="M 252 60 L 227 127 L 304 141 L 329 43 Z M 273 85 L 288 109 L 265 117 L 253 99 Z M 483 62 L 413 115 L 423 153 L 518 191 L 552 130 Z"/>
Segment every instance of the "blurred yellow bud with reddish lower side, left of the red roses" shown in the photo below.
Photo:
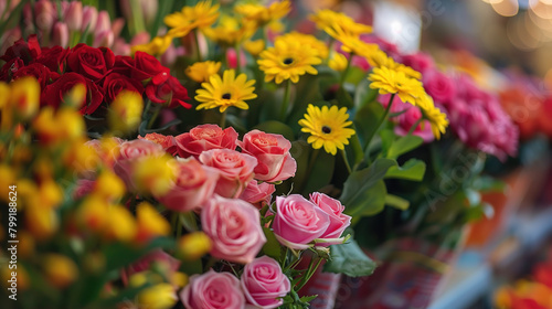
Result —
<path fill-rule="evenodd" d="M 36 115 L 40 106 L 40 84 L 36 78 L 21 77 L 12 82 L 10 86 L 10 104 L 15 116 L 21 119 L 30 119 Z"/>

